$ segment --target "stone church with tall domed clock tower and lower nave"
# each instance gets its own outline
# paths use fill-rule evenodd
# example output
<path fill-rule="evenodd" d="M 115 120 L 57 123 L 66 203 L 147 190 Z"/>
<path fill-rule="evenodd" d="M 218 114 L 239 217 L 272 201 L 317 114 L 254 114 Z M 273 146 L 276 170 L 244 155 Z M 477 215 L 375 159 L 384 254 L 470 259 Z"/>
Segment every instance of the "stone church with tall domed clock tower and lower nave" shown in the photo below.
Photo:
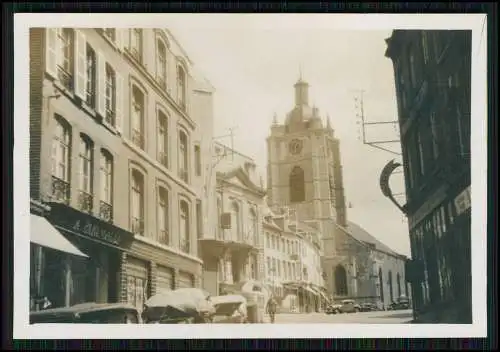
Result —
<path fill-rule="evenodd" d="M 355 299 L 387 307 L 409 295 L 406 257 L 347 218 L 340 141 L 330 119 L 309 104 L 309 84 L 294 86 L 295 106 L 283 124 L 275 116 L 267 138 L 269 207 L 290 209 L 321 233 L 325 289 L 334 300 Z"/>

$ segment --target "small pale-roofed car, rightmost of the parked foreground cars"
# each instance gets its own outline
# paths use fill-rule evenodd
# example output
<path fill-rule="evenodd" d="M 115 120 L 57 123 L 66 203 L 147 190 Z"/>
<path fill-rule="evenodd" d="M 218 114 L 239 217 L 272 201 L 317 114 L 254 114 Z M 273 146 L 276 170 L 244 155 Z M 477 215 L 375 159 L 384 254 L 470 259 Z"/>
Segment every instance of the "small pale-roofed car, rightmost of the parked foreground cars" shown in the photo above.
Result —
<path fill-rule="evenodd" d="M 244 324 L 248 322 L 247 299 L 241 295 L 212 297 L 215 313 L 212 323 Z"/>

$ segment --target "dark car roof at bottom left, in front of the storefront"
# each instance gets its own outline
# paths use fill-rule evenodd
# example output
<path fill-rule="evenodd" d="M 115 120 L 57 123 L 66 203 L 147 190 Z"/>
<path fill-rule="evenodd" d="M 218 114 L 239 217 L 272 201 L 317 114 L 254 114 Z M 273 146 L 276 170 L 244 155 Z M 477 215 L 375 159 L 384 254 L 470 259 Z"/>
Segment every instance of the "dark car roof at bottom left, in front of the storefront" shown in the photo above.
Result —
<path fill-rule="evenodd" d="M 140 324 L 137 308 L 124 303 L 81 303 L 30 313 L 30 324 Z"/>

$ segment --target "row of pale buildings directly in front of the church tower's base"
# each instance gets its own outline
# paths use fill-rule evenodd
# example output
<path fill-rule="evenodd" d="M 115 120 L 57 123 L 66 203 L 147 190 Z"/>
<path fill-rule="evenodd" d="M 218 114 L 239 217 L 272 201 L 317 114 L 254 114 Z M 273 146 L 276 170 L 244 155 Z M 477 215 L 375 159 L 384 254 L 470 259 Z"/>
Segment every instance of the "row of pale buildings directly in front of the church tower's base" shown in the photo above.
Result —
<path fill-rule="evenodd" d="M 264 216 L 265 279 L 283 311 L 319 311 L 327 300 L 320 232 L 275 208 Z"/>

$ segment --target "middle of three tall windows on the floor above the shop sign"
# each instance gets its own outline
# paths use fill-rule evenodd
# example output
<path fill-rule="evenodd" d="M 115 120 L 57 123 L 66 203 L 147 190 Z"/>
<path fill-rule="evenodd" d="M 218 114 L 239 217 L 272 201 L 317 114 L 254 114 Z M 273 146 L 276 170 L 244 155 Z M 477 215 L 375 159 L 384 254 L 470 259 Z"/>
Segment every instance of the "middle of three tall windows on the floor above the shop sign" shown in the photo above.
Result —
<path fill-rule="evenodd" d="M 93 145 L 85 135 L 80 135 L 80 192 L 78 207 L 85 213 L 92 213 Z"/>

